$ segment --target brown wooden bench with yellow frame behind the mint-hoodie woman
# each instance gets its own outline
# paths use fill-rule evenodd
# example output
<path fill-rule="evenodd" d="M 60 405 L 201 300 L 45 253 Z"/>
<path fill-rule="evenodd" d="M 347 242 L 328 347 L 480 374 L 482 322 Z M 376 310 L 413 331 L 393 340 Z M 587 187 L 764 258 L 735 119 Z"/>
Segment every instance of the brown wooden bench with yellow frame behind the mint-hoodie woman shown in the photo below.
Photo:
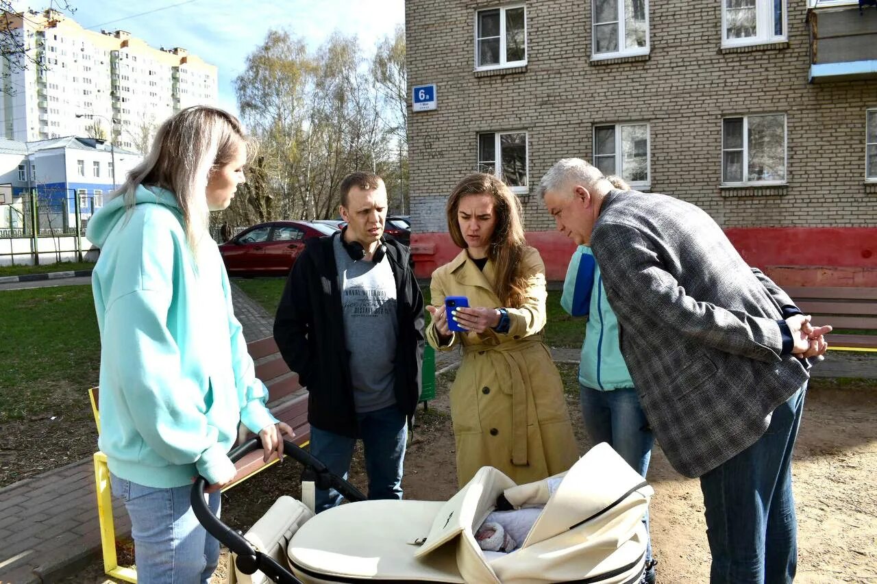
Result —
<path fill-rule="evenodd" d="M 274 338 L 262 338 L 246 345 L 247 351 L 253 358 L 258 377 L 268 388 L 267 406 L 271 413 L 280 420 L 286 422 L 296 432 L 293 440 L 297 445 L 304 446 L 310 442 L 310 424 L 308 424 L 308 392 L 298 382 L 298 374 L 289 370 L 286 361 L 283 360 L 277 349 Z M 97 432 L 101 431 L 100 414 L 98 410 L 98 388 L 89 389 L 91 409 L 95 416 Z M 238 443 L 252 436 L 241 425 L 238 435 Z M 262 451 L 250 452 L 240 459 L 235 467 L 238 469 L 234 480 L 223 488 L 223 491 L 238 485 L 242 481 L 265 470 L 277 462 L 276 455 L 267 462 L 262 459 Z M 113 522 L 112 496 L 110 492 L 110 470 L 107 467 L 106 455 L 103 452 L 95 452 L 95 485 L 97 491 L 97 516 L 101 529 L 101 548 L 103 551 L 103 570 L 107 574 L 126 582 L 137 582 L 137 572 L 134 568 L 119 566 L 116 555 L 116 530 Z"/>

